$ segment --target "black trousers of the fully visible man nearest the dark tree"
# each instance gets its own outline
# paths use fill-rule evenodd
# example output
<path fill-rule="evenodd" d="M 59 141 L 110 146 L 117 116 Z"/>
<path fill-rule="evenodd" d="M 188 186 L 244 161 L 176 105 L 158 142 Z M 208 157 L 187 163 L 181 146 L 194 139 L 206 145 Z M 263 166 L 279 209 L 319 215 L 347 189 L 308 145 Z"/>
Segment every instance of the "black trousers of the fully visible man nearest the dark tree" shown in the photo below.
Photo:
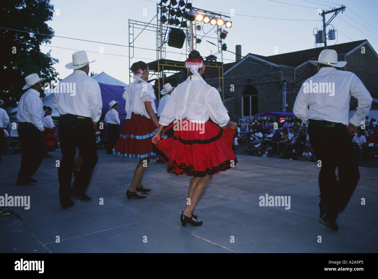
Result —
<path fill-rule="evenodd" d="M 19 176 L 31 177 L 36 173 L 45 154 L 43 134 L 29 122 L 19 122 L 17 133 L 22 152 Z"/>

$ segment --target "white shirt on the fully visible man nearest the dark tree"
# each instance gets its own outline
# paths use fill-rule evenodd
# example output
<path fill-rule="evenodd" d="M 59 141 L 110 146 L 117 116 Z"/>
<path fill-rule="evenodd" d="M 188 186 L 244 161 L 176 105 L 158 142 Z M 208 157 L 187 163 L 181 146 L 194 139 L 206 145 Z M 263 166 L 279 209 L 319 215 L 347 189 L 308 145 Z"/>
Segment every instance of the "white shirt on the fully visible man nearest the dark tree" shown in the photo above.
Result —
<path fill-rule="evenodd" d="M 41 119 L 41 110 L 43 109 L 42 100 L 39 98 L 39 92 L 29 88 L 22 94 L 17 107 L 17 120 L 19 122 L 29 122 L 43 131 Z"/>

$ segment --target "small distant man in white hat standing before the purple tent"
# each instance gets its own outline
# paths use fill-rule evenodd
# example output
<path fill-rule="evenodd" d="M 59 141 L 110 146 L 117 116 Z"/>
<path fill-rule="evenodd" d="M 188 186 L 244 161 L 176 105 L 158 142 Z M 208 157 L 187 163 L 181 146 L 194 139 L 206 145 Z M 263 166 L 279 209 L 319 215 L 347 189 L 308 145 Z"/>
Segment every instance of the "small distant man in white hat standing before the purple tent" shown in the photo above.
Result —
<path fill-rule="evenodd" d="M 119 121 L 118 117 L 118 102 L 111 101 L 109 103 L 109 111 L 105 115 L 105 122 L 108 123 L 108 148 L 107 153 L 113 154 L 113 147 L 119 138 Z"/>

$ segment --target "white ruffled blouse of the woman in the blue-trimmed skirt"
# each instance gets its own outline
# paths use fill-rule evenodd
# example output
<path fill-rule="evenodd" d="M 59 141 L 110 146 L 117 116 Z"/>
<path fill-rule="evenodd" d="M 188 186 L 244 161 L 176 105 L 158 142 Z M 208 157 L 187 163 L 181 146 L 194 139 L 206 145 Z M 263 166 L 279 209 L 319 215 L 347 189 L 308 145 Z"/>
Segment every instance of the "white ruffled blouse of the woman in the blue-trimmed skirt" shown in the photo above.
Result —
<path fill-rule="evenodd" d="M 134 114 L 140 114 L 146 116 L 147 118 L 150 118 L 147 113 L 146 107 L 144 106 L 144 102 L 151 102 L 153 112 L 156 113 L 154 102 L 156 97 L 152 85 L 147 82 L 138 83 L 135 85 L 134 92 L 135 93 L 130 93 L 125 91 L 122 95 L 122 97 L 125 99 L 125 111 L 127 112 L 131 106 L 131 112 L 133 112 Z M 126 119 L 130 119 L 130 116 L 126 116 Z"/>

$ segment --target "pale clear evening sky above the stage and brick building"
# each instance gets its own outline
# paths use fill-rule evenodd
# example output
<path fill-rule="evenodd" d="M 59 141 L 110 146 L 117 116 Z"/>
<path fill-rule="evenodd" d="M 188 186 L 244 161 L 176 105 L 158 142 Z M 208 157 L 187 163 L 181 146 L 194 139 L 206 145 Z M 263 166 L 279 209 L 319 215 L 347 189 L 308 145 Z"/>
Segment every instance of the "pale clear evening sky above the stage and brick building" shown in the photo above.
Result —
<path fill-rule="evenodd" d="M 331 22 L 338 30 L 337 43 L 367 39 L 372 47 L 378 50 L 378 23 L 376 20 L 378 9 L 375 0 L 277 1 L 286 4 L 272 0 L 194 0 L 192 4 L 196 8 L 225 15 L 230 15 L 231 9 L 233 9 L 232 28 L 226 28 L 229 33 L 224 42 L 227 44 L 228 50 L 232 52 L 235 52 L 235 45 L 242 45 L 242 55 L 254 53 L 270 56 L 275 54 L 275 47 L 277 47 L 278 54 L 314 48 L 313 29 L 322 27 L 322 17 L 317 15 L 317 10 L 338 8 L 340 4 L 346 6 L 345 12 L 340 12 Z M 127 57 L 129 55 L 127 47 L 129 45 L 128 21 L 133 19 L 150 22 L 156 15 L 157 2 L 157 0 L 51 0 L 50 3 L 54 5 L 56 11 L 53 20 L 48 21 L 47 24 L 53 28 L 56 36 L 113 43 L 125 47 L 53 37 L 50 45 L 41 46 L 40 49 L 44 53 L 52 50 L 51 56 L 59 59 L 59 63 L 55 64 L 54 68 L 58 71 L 61 79 L 72 73 L 72 70 L 64 67 L 65 64 L 72 62 L 72 54 L 76 50 L 84 50 L 87 51 L 90 61 L 96 59 L 96 62 L 90 64 L 90 71 L 95 73 L 104 71 L 128 84 L 130 67 L 129 57 Z M 59 15 L 57 15 L 58 12 Z M 332 14 L 326 15 L 326 20 Z M 295 19 L 296 21 L 280 19 Z M 156 18 L 152 20 L 152 23 L 156 24 Z M 27 25 L 27 22 L 25 24 Z M 204 35 L 213 27 L 209 23 L 204 24 L 203 22 L 200 25 L 203 25 L 204 28 L 197 35 L 201 33 Z M 327 32 L 330 28 L 332 29 L 332 26 L 328 26 Z M 135 30 L 135 33 L 138 34 L 139 31 Z M 215 37 L 213 31 L 206 36 Z M 155 33 L 143 31 L 136 39 L 135 46 L 152 50 L 136 49 L 135 56 L 141 58 L 134 58 L 132 62 L 138 60 L 151 62 L 156 59 L 155 38 Z M 211 51 L 213 54 L 218 51 L 217 47 L 206 42 L 206 39 L 208 38 L 203 38 L 197 47 L 203 57 L 208 56 Z M 208 40 L 216 43 L 215 39 Z M 336 40 L 327 41 L 328 45 L 335 43 Z M 103 53 L 99 53 L 100 50 Z M 185 49 L 167 46 L 167 51 L 177 53 L 167 53 L 167 59 L 185 60 L 187 56 Z M 235 61 L 234 54 L 228 52 L 223 52 L 223 54 L 225 63 Z M 220 57 L 219 54 L 217 56 Z"/>

